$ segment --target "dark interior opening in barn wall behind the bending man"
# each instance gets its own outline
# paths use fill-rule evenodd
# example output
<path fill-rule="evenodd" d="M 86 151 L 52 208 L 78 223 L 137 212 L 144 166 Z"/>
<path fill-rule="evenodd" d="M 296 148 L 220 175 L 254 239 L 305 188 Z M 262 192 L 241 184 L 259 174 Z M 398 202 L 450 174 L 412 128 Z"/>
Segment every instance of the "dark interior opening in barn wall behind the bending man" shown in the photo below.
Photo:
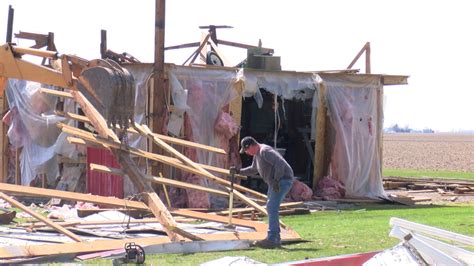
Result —
<path fill-rule="evenodd" d="M 311 141 L 310 130 L 312 100 L 282 100 L 278 96 L 278 113 L 275 119 L 274 94 L 265 89 L 260 89 L 260 92 L 263 98 L 261 108 L 254 97 L 244 98 L 242 101 L 240 138 L 252 136 L 259 143 L 275 147 L 275 124 L 279 125 L 276 147 L 284 153 L 283 157 L 293 168 L 297 179 L 311 186 L 313 175 L 311 158 L 314 154 L 314 141 Z M 242 167 L 252 163 L 250 156 L 243 154 L 241 158 Z M 262 193 L 267 190 L 263 180 L 256 177 L 248 178 L 243 185 Z"/>

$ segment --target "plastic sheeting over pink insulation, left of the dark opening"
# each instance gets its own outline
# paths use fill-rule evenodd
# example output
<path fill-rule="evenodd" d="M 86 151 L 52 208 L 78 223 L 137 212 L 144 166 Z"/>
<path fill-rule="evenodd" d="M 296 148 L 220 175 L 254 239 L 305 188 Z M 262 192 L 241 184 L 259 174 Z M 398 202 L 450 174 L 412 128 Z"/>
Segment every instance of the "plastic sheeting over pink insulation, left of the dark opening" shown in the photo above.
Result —
<path fill-rule="evenodd" d="M 168 69 L 168 73 L 173 104 L 178 111 L 186 112 L 185 137 L 197 143 L 223 147 L 223 143 L 225 141 L 228 143 L 231 135 L 238 132 L 231 130 L 234 126 L 230 125 L 229 119 L 222 114 L 222 108 L 237 96 L 234 89 L 236 72 L 173 66 Z M 231 131 L 233 133 L 230 133 Z M 227 151 L 230 152 L 228 148 Z M 186 149 L 185 155 L 202 164 L 226 167 L 226 155 L 198 149 Z M 181 179 L 208 187 L 218 186 L 188 173 L 183 173 Z M 202 192 L 190 191 L 187 192 L 187 197 L 188 206 L 209 208 L 227 204 L 226 199 L 212 197 Z"/>

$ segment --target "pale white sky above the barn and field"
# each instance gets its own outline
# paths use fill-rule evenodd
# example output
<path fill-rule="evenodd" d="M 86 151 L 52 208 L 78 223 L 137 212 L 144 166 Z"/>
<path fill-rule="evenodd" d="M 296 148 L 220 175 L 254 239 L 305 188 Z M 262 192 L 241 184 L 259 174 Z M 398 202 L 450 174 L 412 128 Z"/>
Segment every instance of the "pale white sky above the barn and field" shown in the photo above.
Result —
<path fill-rule="evenodd" d="M 2 43 L 8 5 L 14 33 L 54 32 L 61 53 L 99 58 L 105 29 L 109 49 L 153 62 L 154 0 L 1 0 Z M 285 70 L 344 69 L 370 41 L 372 73 L 410 76 L 409 85 L 385 87 L 385 127 L 474 130 L 471 1 L 168 0 L 165 45 L 199 41 L 198 26 L 209 24 L 234 27 L 219 30 L 220 39 L 261 39 Z M 181 64 L 192 51 L 167 52 L 165 60 Z M 246 56 L 238 48 L 224 53 L 235 64 Z M 355 68 L 364 71 L 364 61 Z"/>

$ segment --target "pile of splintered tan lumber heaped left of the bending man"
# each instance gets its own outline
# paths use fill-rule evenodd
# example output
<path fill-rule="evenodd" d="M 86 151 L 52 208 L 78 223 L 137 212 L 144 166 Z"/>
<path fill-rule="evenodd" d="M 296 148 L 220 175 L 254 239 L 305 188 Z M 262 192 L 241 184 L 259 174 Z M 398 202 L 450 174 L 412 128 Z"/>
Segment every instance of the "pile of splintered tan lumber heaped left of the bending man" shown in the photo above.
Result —
<path fill-rule="evenodd" d="M 129 131 L 135 134 L 140 134 L 153 141 L 167 153 L 173 157 L 156 154 L 137 148 L 130 147 L 124 143 L 121 143 L 114 131 L 107 126 L 104 118 L 97 112 L 97 110 L 90 104 L 90 102 L 84 97 L 84 95 L 78 91 L 71 90 L 70 92 L 58 92 L 53 90 L 43 90 L 44 93 L 53 94 L 59 97 L 73 98 L 84 111 L 86 116 L 79 116 L 77 114 L 67 113 L 65 116 L 87 122 L 92 125 L 98 134 L 93 134 L 76 127 L 72 127 L 65 124 L 58 124 L 58 127 L 63 132 L 69 134 L 68 141 L 78 145 L 88 145 L 94 147 L 101 147 L 110 150 L 117 158 L 122 169 L 115 169 L 106 167 L 103 165 L 93 164 L 91 169 L 95 171 L 102 171 L 107 173 L 113 173 L 116 175 L 127 175 L 133 182 L 134 186 L 140 192 L 143 201 L 133 201 L 126 199 L 110 198 L 82 193 L 65 192 L 59 190 L 50 190 L 34 187 L 23 187 L 10 184 L 0 184 L 0 198 L 9 202 L 11 205 L 22 209 L 29 213 L 31 216 L 42 222 L 42 225 L 49 226 L 55 231 L 70 238 L 70 243 L 61 244 L 49 244 L 48 248 L 44 248 L 43 245 L 30 245 L 30 246 L 3 246 L 0 247 L 0 259 L 13 259 L 13 258 L 25 258 L 25 257 L 38 257 L 38 256 L 51 256 L 57 254 L 84 254 L 94 253 L 105 250 L 114 250 L 124 247 L 125 243 L 134 242 L 137 245 L 153 245 L 171 242 L 182 242 L 182 241 L 208 241 L 208 240 L 259 240 L 266 236 L 268 225 L 258 221 L 252 221 L 249 219 L 233 218 L 232 224 L 235 226 L 242 226 L 251 228 L 251 232 L 222 232 L 216 234 L 193 234 L 187 232 L 177 222 L 177 217 L 193 218 L 203 221 L 213 221 L 218 223 L 227 224 L 229 218 L 227 217 L 228 212 L 216 212 L 216 213 L 205 213 L 195 210 L 187 209 L 168 209 L 165 204 L 161 201 L 158 195 L 153 190 L 151 183 L 164 184 L 166 186 L 175 186 L 185 189 L 195 189 L 208 193 L 213 193 L 223 197 L 229 197 L 230 193 L 230 182 L 226 179 L 220 178 L 214 173 L 229 174 L 226 169 L 221 169 L 213 166 L 198 164 L 178 152 L 168 143 L 180 144 L 180 145 L 191 145 L 194 148 L 204 148 L 208 150 L 216 149 L 199 145 L 197 143 L 186 142 L 179 139 L 173 139 L 168 136 L 163 136 L 153 133 L 146 125 L 133 125 Z M 218 149 L 216 149 L 218 150 Z M 192 185 L 177 180 L 164 178 L 163 176 L 151 176 L 143 174 L 132 160 L 131 156 L 139 156 L 149 160 L 154 160 L 159 163 L 170 165 L 187 171 L 203 178 L 207 178 L 209 181 L 220 184 L 224 187 L 223 190 L 211 189 L 198 185 Z M 248 206 L 248 208 L 235 210 L 235 213 L 258 213 L 260 215 L 267 215 L 266 209 L 263 206 L 266 202 L 266 196 L 248 189 L 240 185 L 234 185 L 234 197 Z M 23 195 L 23 196 L 34 196 L 34 197 L 54 197 L 59 199 L 65 199 L 70 201 L 82 201 L 98 204 L 102 207 L 116 208 L 116 209 L 135 209 L 153 214 L 154 222 L 158 222 L 162 225 L 163 231 L 166 236 L 159 237 L 146 237 L 136 239 L 113 239 L 113 240 L 96 240 L 96 241 L 85 241 L 83 238 L 73 233 L 68 228 L 75 226 L 74 223 L 59 223 L 54 222 L 50 219 L 43 217 L 42 215 L 32 211 L 27 206 L 23 205 L 19 201 L 12 198 L 12 195 Z M 285 205 L 284 205 L 285 206 Z M 289 205 L 294 206 L 294 205 Z M 286 206 L 288 207 L 288 206 Z M 224 216 L 222 216 L 224 215 Z M 244 215 L 241 216 L 245 218 Z M 300 236 L 288 226 L 280 223 L 282 227 L 282 241 L 293 241 L 299 240 Z"/>

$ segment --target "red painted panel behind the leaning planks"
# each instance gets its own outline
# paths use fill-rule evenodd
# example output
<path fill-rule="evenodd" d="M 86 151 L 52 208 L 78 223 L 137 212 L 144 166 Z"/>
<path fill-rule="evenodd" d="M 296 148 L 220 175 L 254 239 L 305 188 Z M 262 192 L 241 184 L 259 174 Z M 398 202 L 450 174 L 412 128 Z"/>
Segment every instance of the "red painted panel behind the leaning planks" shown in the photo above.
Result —
<path fill-rule="evenodd" d="M 123 177 L 91 171 L 90 163 L 121 168 L 114 155 L 108 150 L 87 147 L 87 192 L 93 195 L 123 198 Z"/>

